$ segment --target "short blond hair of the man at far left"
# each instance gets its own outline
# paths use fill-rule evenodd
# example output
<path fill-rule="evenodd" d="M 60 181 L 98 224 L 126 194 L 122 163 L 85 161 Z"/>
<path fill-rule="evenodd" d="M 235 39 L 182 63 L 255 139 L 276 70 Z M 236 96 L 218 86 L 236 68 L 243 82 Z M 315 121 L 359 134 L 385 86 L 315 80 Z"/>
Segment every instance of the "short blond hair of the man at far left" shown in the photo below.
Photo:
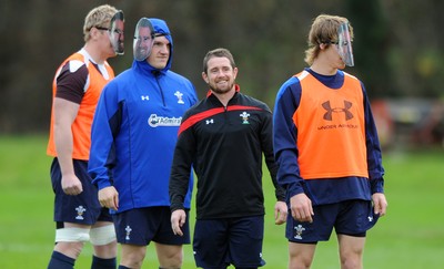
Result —
<path fill-rule="evenodd" d="M 88 42 L 91 38 L 90 30 L 93 27 L 109 28 L 112 17 L 118 12 L 114 7 L 102 4 L 92 9 L 84 18 L 83 40 Z"/>

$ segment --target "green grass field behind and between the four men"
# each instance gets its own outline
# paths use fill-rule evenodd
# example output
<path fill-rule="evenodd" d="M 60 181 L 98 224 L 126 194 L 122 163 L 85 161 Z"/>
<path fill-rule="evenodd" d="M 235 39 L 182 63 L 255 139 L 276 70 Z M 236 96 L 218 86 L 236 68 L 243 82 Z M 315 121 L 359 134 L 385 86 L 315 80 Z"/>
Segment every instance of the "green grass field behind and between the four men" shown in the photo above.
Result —
<path fill-rule="evenodd" d="M 53 245 L 51 158 L 46 136 L 0 136 L 0 268 L 46 268 Z M 443 268 L 444 149 L 384 153 L 387 216 L 369 232 L 365 268 Z M 268 173 L 264 173 L 268 175 Z M 264 178 L 268 207 L 264 268 L 286 268 L 284 226 L 273 224 L 273 188 Z M 183 268 L 195 268 L 191 247 Z M 75 268 L 90 268 L 87 245 Z M 143 268 L 158 268 L 150 246 Z M 313 269 L 339 268 L 336 239 L 317 246 Z"/>

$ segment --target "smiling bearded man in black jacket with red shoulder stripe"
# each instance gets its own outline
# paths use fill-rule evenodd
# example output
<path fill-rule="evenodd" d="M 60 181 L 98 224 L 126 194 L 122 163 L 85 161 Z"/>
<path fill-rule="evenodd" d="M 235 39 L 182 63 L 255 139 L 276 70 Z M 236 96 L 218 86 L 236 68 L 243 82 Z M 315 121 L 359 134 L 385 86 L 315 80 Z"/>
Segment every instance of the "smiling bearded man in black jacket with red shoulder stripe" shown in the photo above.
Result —
<path fill-rule="evenodd" d="M 285 192 L 276 183 L 272 113 L 235 84 L 230 51 L 215 49 L 203 60 L 205 99 L 183 116 L 170 177 L 171 225 L 182 235 L 183 199 L 191 167 L 198 176 L 193 250 L 198 267 L 258 268 L 262 259 L 264 197 L 262 153 L 275 187 L 275 224 L 285 223 Z"/>

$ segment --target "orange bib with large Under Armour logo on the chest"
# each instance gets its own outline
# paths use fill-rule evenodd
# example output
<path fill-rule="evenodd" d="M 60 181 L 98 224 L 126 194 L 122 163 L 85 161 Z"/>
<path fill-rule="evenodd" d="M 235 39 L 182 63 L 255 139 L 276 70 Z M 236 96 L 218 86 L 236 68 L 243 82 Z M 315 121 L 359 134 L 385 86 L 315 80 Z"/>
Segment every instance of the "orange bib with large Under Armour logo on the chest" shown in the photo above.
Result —
<path fill-rule="evenodd" d="M 325 86 L 306 71 L 295 75 L 301 102 L 293 122 L 304 179 L 369 177 L 363 92 L 356 77 L 344 74 L 341 89 Z"/>

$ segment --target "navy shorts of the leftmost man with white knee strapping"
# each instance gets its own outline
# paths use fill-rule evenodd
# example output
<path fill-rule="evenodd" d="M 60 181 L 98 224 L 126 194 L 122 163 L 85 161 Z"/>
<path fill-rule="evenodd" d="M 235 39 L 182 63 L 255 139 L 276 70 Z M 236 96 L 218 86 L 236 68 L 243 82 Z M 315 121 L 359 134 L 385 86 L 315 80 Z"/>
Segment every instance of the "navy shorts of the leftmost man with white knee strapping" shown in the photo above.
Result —
<path fill-rule="evenodd" d="M 100 206 L 98 188 L 91 183 L 92 179 L 88 174 L 88 162 L 73 159 L 73 166 L 83 187 L 83 192 L 79 195 L 63 193 L 59 161 L 54 158 L 51 164 L 52 190 L 56 194 L 54 221 L 58 228 L 62 228 L 63 223 L 93 225 L 98 220 L 112 221 L 109 209 Z"/>

